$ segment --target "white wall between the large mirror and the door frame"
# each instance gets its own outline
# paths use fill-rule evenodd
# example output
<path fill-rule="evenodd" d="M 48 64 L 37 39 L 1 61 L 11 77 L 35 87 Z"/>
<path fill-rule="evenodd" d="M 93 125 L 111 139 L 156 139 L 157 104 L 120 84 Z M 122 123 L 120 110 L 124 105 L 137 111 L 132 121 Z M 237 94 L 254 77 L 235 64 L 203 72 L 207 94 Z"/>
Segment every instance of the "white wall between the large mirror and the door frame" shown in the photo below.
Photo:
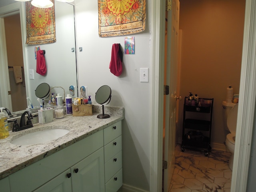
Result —
<path fill-rule="evenodd" d="M 149 1 L 147 1 L 148 3 Z M 76 30 L 78 52 L 78 83 L 88 87 L 95 104 L 95 93 L 106 84 L 112 88 L 109 105 L 124 106 L 122 122 L 123 183 L 149 190 L 151 125 L 150 125 L 150 5 L 147 4 L 146 30 L 135 37 L 135 54 L 125 55 L 119 77 L 110 73 L 112 44 L 120 43 L 124 51 L 126 36 L 100 38 L 98 35 L 98 1 L 76 0 Z M 140 82 L 140 68 L 149 68 L 149 82 Z"/>

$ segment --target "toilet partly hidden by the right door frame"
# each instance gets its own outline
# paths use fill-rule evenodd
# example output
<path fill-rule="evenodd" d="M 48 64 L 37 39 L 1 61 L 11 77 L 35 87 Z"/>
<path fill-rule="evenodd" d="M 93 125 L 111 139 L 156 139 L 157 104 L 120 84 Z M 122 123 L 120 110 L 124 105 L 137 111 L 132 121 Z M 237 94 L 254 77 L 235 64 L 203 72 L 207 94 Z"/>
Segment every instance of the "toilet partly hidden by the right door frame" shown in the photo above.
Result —
<path fill-rule="evenodd" d="M 233 159 L 235 151 L 235 140 L 236 140 L 236 120 L 238 112 L 238 104 L 222 102 L 224 110 L 224 128 L 230 133 L 226 136 L 226 148 L 231 152 L 231 157 L 229 159 L 229 168 L 233 168 Z"/>

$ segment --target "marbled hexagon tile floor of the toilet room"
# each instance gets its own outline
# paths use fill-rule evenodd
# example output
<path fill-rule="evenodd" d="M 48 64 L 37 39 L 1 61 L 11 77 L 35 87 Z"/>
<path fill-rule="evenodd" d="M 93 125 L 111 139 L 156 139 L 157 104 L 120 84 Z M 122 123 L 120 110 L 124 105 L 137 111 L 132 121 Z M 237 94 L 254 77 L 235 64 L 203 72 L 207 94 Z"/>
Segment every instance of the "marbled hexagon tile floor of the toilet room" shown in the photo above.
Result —
<path fill-rule="evenodd" d="M 175 149 L 175 167 L 169 192 L 230 192 L 229 152 L 204 153 Z"/>

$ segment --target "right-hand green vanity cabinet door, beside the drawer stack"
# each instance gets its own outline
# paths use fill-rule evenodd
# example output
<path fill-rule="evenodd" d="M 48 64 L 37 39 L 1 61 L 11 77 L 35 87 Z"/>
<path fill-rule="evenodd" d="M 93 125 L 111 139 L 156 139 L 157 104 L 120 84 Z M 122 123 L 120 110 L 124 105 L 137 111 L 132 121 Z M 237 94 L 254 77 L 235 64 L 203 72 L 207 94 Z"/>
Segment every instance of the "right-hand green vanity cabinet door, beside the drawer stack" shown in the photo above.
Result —
<path fill-rule="evenodd" d="M 104 192 L 103 147 L 71 167 L 73 192 Z"/>

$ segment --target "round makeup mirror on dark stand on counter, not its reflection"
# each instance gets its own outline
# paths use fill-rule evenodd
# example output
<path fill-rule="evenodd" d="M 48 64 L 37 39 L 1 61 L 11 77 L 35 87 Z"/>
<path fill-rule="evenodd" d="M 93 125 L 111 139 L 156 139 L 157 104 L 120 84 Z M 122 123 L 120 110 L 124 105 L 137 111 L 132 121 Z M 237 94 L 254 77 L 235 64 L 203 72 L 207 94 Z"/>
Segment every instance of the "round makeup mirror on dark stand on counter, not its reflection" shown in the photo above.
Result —
<path fill-rule="evenodd" d="M 104 114 L 104 105 L 107 105 L 111 100 L 111 88 L 107 85 L 101 86 L 95 94 L 95 101 L 102 105 L 102 114 L 99 114 L 97 118 L 105 119 L 110 118 L 110 115 Z"/>

